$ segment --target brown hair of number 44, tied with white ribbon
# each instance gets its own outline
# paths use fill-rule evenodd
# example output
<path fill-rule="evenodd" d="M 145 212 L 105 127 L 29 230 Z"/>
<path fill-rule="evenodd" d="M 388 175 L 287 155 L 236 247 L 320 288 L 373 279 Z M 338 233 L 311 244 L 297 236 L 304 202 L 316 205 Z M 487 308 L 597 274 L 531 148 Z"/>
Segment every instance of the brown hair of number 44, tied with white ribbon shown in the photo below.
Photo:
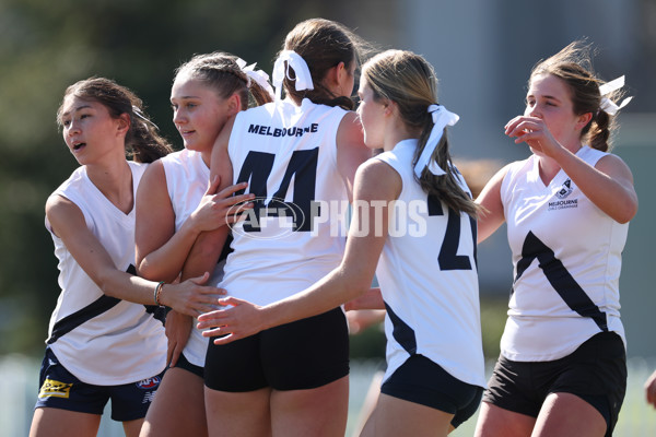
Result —
<path fill-rule="evenodd" d="M 296 103 L 309 98 L 313 103 L 353 109 L 351 96 L 338 96 L 324 85 L 326 73 L 340 62 L 347 71 L 360 63 L 361 51 L 367 44 L 342 24 L 324 19 L 298 23 L 286 36 L 283 50 L 300 55 L 309 69 L 314 90 L 296 91 L 293 78 L 283 81 L 285 93 Z M 293 71 L 293 69 L 290 69 Z"/>

